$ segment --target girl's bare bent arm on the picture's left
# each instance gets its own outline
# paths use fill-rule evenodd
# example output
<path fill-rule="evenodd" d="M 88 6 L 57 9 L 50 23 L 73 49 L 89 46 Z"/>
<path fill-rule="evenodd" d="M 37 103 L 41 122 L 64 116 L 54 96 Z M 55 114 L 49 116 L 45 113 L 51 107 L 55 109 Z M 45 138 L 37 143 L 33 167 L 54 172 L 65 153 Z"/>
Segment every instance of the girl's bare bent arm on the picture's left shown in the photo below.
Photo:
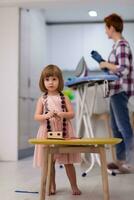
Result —
<path fill-rule="evenodd" d="M 43 103 L 42 103 L 42 97 L 40 97 L 37 101 L 36 104 L 36 109 L 35 109 L 35 114 L 34 114 L 34 119 L 36 121 L 42 122 L 46 119 L 50 119 L 51 117 L 54 116 L 54 112 L 49 112 L 47 114 L 43 113 Z"/>

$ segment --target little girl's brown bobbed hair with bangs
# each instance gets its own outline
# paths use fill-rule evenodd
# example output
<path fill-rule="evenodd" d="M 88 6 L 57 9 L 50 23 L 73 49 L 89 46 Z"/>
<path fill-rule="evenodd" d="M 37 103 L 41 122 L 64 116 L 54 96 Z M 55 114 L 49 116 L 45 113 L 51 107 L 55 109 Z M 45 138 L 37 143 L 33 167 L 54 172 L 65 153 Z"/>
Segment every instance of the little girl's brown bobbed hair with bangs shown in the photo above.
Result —
<path fill-rule="evenodd" d="M 57 90 L 61 92 L 64 88 L 64 80 L 63 80 L 61 69 L 56 65 L 47 65 L 41 72 L 41 76 L 39 80 L 40 90 L 42 92 L 47 92 L 47 89 L 44 85 L 44 79 L 49 76 L 56 76 L 59 79 L 59 85 L 58 85 Z"/>

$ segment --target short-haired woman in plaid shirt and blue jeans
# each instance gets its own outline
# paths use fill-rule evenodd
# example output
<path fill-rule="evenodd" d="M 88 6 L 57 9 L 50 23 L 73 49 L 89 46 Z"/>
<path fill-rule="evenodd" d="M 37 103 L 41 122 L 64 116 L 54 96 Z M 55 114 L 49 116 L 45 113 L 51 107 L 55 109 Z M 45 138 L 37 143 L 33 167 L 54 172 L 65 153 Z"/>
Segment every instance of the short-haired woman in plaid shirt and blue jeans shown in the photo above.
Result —
<path fill-rule="evenodd" d="M 117 14 L 104 18 L 105 30 L 109 39 L 114 41 L 108 62 L 101 62 L 100 68 L 107 68 L 116 74 L 119 80 L 109 83 L 110 114 L 113 136 L 122 138 L 116 146 L 117 161 L 109 163 L 109 169 L 118 169 L 122 173 L 134 170 L 130 165 L 133 132 L 129 119 L 128 100 L 134 95 L 134 66 L 129 43 L 123 38 L 123 20 Z"/>

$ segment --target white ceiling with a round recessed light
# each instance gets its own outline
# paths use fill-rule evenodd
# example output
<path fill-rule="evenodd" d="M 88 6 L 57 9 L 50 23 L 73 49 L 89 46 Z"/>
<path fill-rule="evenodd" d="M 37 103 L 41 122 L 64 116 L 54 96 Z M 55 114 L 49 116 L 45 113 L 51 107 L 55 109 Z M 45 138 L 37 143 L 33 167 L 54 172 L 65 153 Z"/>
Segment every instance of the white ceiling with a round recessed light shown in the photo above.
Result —
<path fill-rule="evenodd" d="M 102 21 L 113 12 L 134 21 L 134 0 L 0 0 L 0 6 L 44 9 L 47 22 L 53 23 Z M 90 18 L 88 10 L 96 10 L 98 16 Z"/>

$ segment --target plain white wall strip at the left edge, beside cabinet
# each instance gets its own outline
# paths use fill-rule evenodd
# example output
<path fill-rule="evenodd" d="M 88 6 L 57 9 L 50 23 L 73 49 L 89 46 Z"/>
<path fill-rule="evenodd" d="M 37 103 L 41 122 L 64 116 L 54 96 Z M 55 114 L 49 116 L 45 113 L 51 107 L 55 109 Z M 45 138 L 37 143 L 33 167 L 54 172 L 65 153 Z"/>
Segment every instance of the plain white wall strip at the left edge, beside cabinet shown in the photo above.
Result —
<path fill-rule="evenodd" d="M 0 160 L 17 159 L 19 10 L 0 8 Z"/>

